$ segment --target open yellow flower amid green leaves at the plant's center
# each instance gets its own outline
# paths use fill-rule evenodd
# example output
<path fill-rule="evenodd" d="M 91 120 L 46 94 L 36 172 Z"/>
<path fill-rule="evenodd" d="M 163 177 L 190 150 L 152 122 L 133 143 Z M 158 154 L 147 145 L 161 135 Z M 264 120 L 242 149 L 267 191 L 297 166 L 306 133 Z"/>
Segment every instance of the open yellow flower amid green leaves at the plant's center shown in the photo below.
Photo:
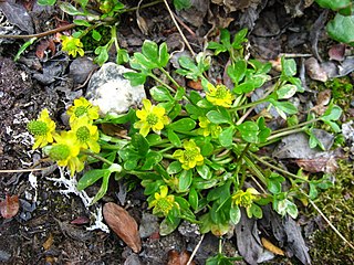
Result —
<path fill-rule="evenodd" d="M 181 163 L 183 169 L 192 169 L 204 163 L 204 157 L 200 155 L 200 148 L 191 140 L 184 141 L 185 150 L 176 150 L 173 155 Z"/>

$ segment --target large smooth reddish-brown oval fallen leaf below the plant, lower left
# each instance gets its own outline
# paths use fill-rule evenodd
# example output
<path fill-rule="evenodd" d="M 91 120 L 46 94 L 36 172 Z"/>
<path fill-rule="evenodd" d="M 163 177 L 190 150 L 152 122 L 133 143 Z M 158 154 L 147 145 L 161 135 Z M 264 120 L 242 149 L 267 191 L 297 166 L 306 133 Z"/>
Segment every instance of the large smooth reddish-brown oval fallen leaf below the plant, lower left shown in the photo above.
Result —
<path fill-rule="evenodd" d="M 103 216 L 107 225 L 127 244 L 135 253 L 140 252 L 142 241 L 136 221 L 122 206 L 107 202 L 103 206 Z"/>

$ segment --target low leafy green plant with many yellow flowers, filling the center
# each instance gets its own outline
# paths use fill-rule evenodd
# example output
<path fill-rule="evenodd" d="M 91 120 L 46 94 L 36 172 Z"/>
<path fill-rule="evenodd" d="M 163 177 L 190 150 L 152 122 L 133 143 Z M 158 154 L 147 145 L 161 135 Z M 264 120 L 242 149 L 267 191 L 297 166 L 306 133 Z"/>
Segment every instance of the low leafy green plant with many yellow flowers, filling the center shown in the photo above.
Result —
<path fill-rule="evenodd" d="M 102 162 L 102 168 L 85 172 L 77 184 L 84 190 L 101 180 L 92 203 L 106 193 L 110 178 L 138 178 L 148 208 L 163 218 L 162 235 L 187 220 L 199 224 L 201 233 L 222 236 L 240 221 L 242 208 L 248 218 L 261 219 L 262 205 L 269 203 L 280 215 L 296 218 L 294 200 L 306 203 L 315 198 L 320 189 L 330 186 L 327 176 L 311 179 L 301 170 L 291 173 L 261 150 L 299 131 L 310 135 L 311 147 L 323 148 L 313 128 L 324 123 L 339 134 L 336 120 L 342 110 L 331 103 L 322 116 L 310 112 L 302 123 L 284 123 L 278 130 L 269 128 L 271 108 L 284 120 L 298 114 L 292 97 L 303 88 L 295 77 L 294 60 L 281 59 L 281 74 L 272 78 L 270 63 L 244 59 L 246 36 L 247 30 L 242 30 L 231 42 L 230 33 L 221 30 L 220 43 L 208 45 L 216 55 L 230 55 L 226 72 L 233 87 L 206 77 L 211 56 L 200 53 L 195 60 L 178 60 L 176 74 L 200 82 L 202 93 L 186 91 L 166 70 L 170 57 L 166 43 L 145 41 L 142 52 L 129 60 L 136 72 L 125 74 L 133 85 L 145 84 L 147 78 L 157 83 L 149 88 L 150 99 L 143 99 L 142 108 L 98 118 L 97 107 L 84 98 L 75 99 L 67 110 L 71 129 L 61 132 L 43 110 L 28 126 L 34 135 L 33 148 L 43 148 L 59 166 L 67 167 L 71 176 L 85 162 Z M 266 83 L 268 88 L 263 88 Z M 261 87 L 264 96 L 252 102 L 250 94 Z M 259 104 L 266 107 L 256 114 Z M 103 124 L 128 126 L 127 135 L 106 135 L 100 129 Z M 223 263 L 227 257 L 221 251 L 209 262 L 229 264 Z"/>

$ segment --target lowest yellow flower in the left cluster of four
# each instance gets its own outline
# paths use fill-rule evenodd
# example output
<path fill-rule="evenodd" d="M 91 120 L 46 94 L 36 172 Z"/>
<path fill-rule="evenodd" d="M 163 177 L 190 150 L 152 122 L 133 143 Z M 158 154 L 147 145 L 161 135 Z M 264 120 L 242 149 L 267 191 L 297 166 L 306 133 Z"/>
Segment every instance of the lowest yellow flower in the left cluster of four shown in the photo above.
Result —
<path fill-rule="evenodd" d="M 58 166 L 67 167 L 71 176 L 83 170 L 84 163 L 77 157 L 80 144 L 74 131 L 62 131 L 61 135 L 55 135 L 54 139 L 56 142 L 44 149 L 49 157 L 56 161 Z"/>

